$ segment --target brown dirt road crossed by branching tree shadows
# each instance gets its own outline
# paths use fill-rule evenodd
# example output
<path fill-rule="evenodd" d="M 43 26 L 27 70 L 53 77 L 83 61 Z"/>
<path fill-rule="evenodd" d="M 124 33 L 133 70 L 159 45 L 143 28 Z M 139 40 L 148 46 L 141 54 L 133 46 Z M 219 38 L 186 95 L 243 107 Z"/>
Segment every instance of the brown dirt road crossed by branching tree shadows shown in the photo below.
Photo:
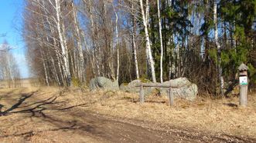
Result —
<path fill-rule="evenodd" d="M 251 138 L 205 135 L 183 128 L 156 130 L 152 123 L 121 121 L 70 105 L 58 92 L 0 90 L 1 142 L 254 142 Z"/>

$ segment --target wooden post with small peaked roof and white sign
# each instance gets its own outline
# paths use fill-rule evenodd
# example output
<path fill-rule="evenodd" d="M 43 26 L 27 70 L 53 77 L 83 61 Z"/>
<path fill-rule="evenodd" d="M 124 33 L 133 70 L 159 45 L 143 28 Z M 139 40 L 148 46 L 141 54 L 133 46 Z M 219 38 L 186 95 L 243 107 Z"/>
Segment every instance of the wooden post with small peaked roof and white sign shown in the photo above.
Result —
<path fill-rule="evenodd" d="M 240 85 L 240 96 L 239 96 L 239 104 L 241 106 L 247 106 L 247 70 L 248 67 L 244 64 L 241 64 L 238 68 L 239 70 L 239 85 Z"/>

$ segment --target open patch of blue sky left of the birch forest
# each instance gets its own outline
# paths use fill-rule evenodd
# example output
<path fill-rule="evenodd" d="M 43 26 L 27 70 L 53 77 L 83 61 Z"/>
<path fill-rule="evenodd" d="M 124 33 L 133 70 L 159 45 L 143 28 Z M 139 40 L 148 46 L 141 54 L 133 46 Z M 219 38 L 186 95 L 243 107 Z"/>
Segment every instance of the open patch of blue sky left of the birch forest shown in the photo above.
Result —
<path fill-rule="evenodd" d="M 0 0 L 0 43 L 6 40 L 15 47 L 12 54 L 15 57 L 22 78 L 29 77 L 29 68 L 26 62 L 26 47 L 22 41 L 22 6 L 23 0 Z"/>

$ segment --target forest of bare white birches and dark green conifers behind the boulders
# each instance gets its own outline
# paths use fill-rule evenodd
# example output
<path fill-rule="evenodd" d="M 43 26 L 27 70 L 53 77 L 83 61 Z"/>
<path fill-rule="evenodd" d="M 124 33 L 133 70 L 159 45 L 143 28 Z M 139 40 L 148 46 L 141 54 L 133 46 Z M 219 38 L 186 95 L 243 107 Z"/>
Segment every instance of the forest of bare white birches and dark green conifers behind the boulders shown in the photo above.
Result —
<path fill-rule="evenodd" d="M 186 77 L 224 95 L 241 63 L 256 82 L 256 0 L 26 0 L 22 16 L 43 85 Z"/>

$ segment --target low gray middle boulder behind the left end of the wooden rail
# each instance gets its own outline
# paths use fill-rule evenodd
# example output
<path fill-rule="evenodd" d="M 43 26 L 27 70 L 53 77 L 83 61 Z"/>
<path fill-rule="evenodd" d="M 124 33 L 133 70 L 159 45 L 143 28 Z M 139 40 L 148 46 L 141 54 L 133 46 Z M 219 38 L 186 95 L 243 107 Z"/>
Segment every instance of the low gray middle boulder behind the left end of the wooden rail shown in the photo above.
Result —
<path fill-rule="evenodd" d="M 151 81 L 149 80 L 140 80 L 140 79 L 136 79 L 134 81 L 131 81 L 130 83 L 123 83 L 120 85 L 120 90 L 121 91 L 126 91 L 126 92 L 130 92 L 130 93 L 139 93 L 140 92 L 140 88 L 139 87 L 135 87 L 136 85 L 141 85 L 142 83 L 150 83 Z M 143 88 L 144 89 L 144 94 L 145 95 L 151 95 L 151 94 L 157 94 L 157 92 L 159 92 L 159 90 L 157 90 L 157 88 Z"/>

